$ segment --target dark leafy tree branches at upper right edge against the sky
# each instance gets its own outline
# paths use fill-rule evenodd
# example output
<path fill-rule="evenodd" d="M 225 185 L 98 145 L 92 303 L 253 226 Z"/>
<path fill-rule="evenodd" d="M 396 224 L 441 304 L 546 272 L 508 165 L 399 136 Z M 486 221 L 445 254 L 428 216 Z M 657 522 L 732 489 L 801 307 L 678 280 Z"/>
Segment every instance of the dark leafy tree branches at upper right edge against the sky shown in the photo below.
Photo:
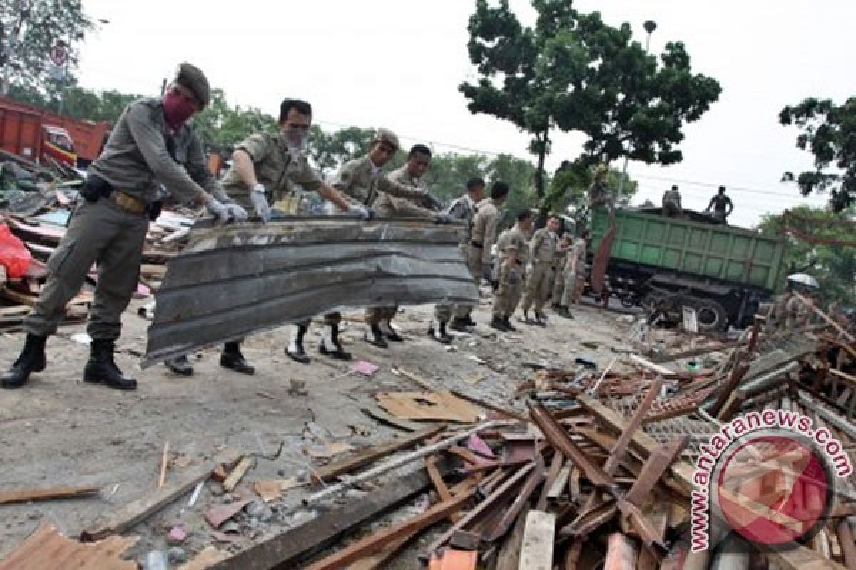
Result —
<path fill-rule="evenodd" d="M 797 148 L 814 155 L 814 170 L 784 173 L 783 182 L 794 182 L 803 196 L 829 191 L 829 204 L 841 212 L 856 197 L 856 97 L 836 106 L 830 99 L 805 99 L 786 107 L 779 122 L 800 129 Z M 832 168 L 833 170 L 830 170 Z"/>

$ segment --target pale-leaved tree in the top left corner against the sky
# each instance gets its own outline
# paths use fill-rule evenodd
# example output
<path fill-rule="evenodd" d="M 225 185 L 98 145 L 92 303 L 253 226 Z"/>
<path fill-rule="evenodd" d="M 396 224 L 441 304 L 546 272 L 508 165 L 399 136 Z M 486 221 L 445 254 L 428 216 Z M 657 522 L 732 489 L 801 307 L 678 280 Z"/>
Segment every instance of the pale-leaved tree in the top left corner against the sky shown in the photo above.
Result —
<path fill-rule="evenodd" d="M 49 82 L 48 56 L 56 45 L 68 51 L 66 70 L 73 70 L 79 56 L 75 46 L 93 26 L 81 0 L 0 3 L 0 93 L 6 95 L 13 84 L 43 91 Z"/>

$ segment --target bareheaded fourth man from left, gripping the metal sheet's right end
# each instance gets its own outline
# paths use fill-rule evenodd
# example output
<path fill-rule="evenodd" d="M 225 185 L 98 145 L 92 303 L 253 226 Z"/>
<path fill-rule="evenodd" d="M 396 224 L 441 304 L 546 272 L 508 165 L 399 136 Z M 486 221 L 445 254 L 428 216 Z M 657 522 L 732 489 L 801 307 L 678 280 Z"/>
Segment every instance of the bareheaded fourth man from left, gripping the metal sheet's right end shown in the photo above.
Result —
<path fill-rule="evenodd" d="M 410 186 L 412 188 L 425 189 L 425 182 L 422 177 L 431 163 L 431 149 L 424 144 L 417 144 L 410 150 L 407 156 L 407 162 L 401 168 L 389 173 L 388 178 L 398 184 Z M 372 204 L 372 209 L 377 215 L 384 218 L 394 216 L 424 218 L 425 220 L 434 220 L 437 223 L 448 223 L 449 218 L 445 214 L 434 212 L 433 210 L 424 208 L 420 203 L 413 199 L 396 198 L 383 192 L 377 195 L 377 199 Z M 366 309 L 366 323 L 372 325 L 377 323 L 380 326 L 383 337 L 387 340 L 401 343 L 404 338 L 395 331 L 392 326 L 392 320 L 398 312 L 398 307 L 372 307 Z M 443 344 L 450 344 L 451 337 L 440 339 Z"/>

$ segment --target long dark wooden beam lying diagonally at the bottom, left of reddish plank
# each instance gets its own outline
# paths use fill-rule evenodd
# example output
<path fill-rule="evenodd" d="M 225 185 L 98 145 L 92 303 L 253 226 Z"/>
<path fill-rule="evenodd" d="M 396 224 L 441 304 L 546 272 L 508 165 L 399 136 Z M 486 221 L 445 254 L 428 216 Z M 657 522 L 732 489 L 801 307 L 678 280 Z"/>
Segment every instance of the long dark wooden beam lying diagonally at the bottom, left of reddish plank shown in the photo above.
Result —
<path fill-rule="evenodd" d="M 448 471 L 449 467 L 441 467 L 441 473 Z M 431 480 L 423 470 L 395 479 L 366 497 L 348 502 L 342 508 L 324 511 L 301 526 L 242 550 L 211 570 L 289 570 L 297 567 L 310 556 L 341 543 L 342 538 L 367 521 L 416 497 L 430 485 Z"/>

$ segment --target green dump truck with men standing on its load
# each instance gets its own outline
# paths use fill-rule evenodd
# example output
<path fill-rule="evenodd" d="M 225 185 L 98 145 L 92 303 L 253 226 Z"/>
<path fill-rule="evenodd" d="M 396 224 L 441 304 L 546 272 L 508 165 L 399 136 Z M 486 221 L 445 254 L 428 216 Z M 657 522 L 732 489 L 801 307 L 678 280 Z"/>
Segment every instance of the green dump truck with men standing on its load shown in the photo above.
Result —
<path fill-rule="evenodd" d="M 751 323 L 758 303 L 784 281 L 784 239 L 710 223 L 687 212 L 669 218 L 659 209 L 618 209 L 605 291 L 625 307 L 681 318 L 695 309 L 698 328 L 722 331 Z M 589 261 L 609 232 L 609 209 L 591 213 Z"/>

